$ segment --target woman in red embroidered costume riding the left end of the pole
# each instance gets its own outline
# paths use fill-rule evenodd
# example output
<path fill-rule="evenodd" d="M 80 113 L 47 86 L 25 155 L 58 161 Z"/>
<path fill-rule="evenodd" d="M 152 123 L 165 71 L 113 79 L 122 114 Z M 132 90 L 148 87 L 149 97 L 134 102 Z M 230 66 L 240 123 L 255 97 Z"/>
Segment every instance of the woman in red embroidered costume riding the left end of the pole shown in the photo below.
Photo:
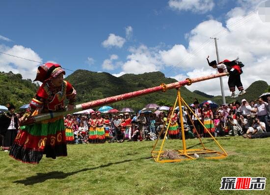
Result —
<path fill-rule="evenodd" d="M 43 84 L 31 100 L 23 117 L 20 118 L 20 131 L 9 153 L 14 159 L 23 163 L 37 164 L 43 154 L 53 159 L 57 156 L 67 156 L 63 116 L 24 126 L 27 120 L 33 120 L 30 116 L 65 111 L 65 98 L 69 100 L 68 110 L 73 110 L 76 90 L 70 83 L 63 80 L 64 74 L 65 71 L 59 64 L 45 63 L 38 67 L 34 81 L 40 81 Z"/>

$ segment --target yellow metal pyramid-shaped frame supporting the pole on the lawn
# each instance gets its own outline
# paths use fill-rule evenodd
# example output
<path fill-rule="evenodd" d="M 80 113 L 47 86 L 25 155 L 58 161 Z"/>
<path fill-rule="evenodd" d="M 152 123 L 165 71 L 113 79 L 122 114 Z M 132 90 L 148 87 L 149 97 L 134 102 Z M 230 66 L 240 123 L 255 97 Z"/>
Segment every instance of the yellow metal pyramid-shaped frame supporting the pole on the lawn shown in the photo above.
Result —
<path fill-rule="evenodd" d="M 182 131 L 182 143 L 183 143 L 183 149 L 179 149 L 179 150 L 175 150 L 176 152 L 178 152 L 178 155 L 179 157 L 181 157 L 180 159 L 171 159 L 171 160 L 162 160 L 162 157 L 163 157 L 163 153 L 164 151 L 162 150 L 163 148 L 163 145 L 164 145 L 164 142 L 165 142 L 165 138 L 167 136 L 167 133 L 168 133 L 168 129 L 169 129 L 169 126 L 171 124 L 171 119 L 172 119 L 172 114 L 173 114 L 173 111 L 176 107 L 176 104 L 178 103 L 178 106 L 179 106 L 179 111 L 180 111 L 180 118 L 181 118 L 181 131 Z M 221 149 L 222 152 L 218 152 L 218 151 L 215 151 L 215 150 L 211 150 L 211 149 L 207 149 L 205 148 L 197 130 L 195 129 L 196 131 L 196 134 L 198 135 L 198 139 L 200 140 L 201 142 L 201 145 L 203 148 L 199 148 L 199 149 L 187 149 L 186 147 L 186 139 L 185 139 L 185 132 L 184 132 L 184 124 L 183 124 L 183 112 L 182 112 L 182 103 L 183 105 L 189 109 L 189 111 L 191 111 L 191 113 L 198 119 L 198 121 L 203 125 L 204 129 L 207 131 L 207 133 L 210 135 L 210 137 L 216 142 L 216 145 Z M 189 116 L 189 119 L 190 121 L 192 122 L 191 118 L 190 118 L 190 115 L 188 113 L 188 116 Z M 222 158 L 225 158 L 228 156 L 228 154 L 225 152 L 225 150 L 221 147 L 221 145 L 217 142 L 217 140 L 212 136 L 212 134 L 208 131 L 208 129 L 204 126 L 204 124 L 199 120 L 199 118 L 195 115 L 195 113 L 189 108 L 189 105 L 183 100 L 183 98 L 181 98 L 181 94 L 180 94 L 180 88 L 178 89 L 178 92 L 177 92 L 177 97 L 176 97 L 176 101 L 174 103 L 174 106 L 173 106 L 173 110 L 171 110 L 171 112 L 169 113 L 169 122 L 168 122 L 168 126 L 166 128 L 166 132 L 165 132 L 165 135 L 164 135 L 164 138 L 162 140 L 162 144 L 161 144 L 161 147 L 159 150 L 155 151 L 155 148 L 157 146 L 157 143 L 159 141 L 159 138 L 162 134 L 162 132 L 164 131 L 164 127 L 165 127 L 165 123 L 166 121 L 164 122 L 164 125 L 163 125 L 163 128 L 160 132 L 160 135 L 158 137 L 158 139 L 156 140 L 155 144 L 154 144 L 154 147 L 151 151 L 151 155 L 153 157 L 153 159 L 158 162 L 158 163 L 172 163 L 172 162 L 180 162 L 180 161 L 185 161 L 185 160 L 195 160 L 196 158 L 192 157 L 192 155 L 194 155 L 195 153 L 198 154 L 198 155 L 201 155 L 201 154 L 216 154 L 216 156 L 211 156 L 211 157 L 200 157 L 200 158 L 205 158 L 205 159 L 222 159 Z M 193 122 L 192 122 L 193 124 Z M 193 127 L 194 127 L 194 124 L 193 124 Z M 195 127 L 194 127 L 195 128 Z"/>

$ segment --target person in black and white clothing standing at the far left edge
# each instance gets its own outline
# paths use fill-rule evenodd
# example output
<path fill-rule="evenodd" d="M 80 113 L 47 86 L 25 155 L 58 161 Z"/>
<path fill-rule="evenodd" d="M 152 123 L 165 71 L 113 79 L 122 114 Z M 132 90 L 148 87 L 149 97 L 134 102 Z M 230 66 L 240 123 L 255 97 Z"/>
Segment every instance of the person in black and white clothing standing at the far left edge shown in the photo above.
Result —
<path fill-rule="evenodd" d="M 0 115 L 0 135 L 3 136 L 3 150 L 7 152 L 10 149 L 18 132 L 18 118 L 14 113 L 15 106 L 7 105 L 8 112 Z"/>

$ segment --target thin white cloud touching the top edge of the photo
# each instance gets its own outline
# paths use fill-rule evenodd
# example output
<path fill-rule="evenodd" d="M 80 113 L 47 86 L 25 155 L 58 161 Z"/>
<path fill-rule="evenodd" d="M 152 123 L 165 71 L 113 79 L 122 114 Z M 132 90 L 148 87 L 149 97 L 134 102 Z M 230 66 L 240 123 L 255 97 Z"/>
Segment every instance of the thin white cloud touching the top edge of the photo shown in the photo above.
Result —
<path fill-rule="evenodd" d="M 194 13 L 206 13 L 215 6 L 214 0 L 169 0 L 168 4 L 172 9 Z"/>

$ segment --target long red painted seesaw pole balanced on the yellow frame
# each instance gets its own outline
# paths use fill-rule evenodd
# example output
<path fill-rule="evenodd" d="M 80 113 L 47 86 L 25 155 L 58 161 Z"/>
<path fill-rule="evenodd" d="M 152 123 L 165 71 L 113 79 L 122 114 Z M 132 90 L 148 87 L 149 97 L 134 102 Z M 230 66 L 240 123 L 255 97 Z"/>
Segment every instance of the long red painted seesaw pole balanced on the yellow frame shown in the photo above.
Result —
<path fill-rule="evenodd" d="M 130 93 L 125 93 L 125 94 L 121 94 L 121 95 L 116 95 L 116 96 L 112 96 L 112 97 L 108 97 L 108 98 L 104 98 L 104 99 L 100 99 L 100 100 L 95 100 L 95 101 L 91 101 L 91 102 L 87 102 L 87 103 L 83 103 L 83 104 L 78 104 L 78 105 L 74 106 L 74 109 L 72 111 L 48 112 L 48 113 L 43 113 L 43 114 L 39 114 L 36 116 L 32 116 L 24 123 L 24 125 L 25 124 L 33 124 L 36 122 L 40 122 L 40 121 L 47 120 L 50 118 L 55 118 L 58 116 L 69 114 L 69 113 L 74 113 L 77 111 L 83 111 L 83 110 L 87 110 L 90 108 L 108 105 L 108 104 L 111 104 L 114 102 L 119 102 L 122 100 L 131 99 L 131 98 L 142 96 L 142 95 L 149 94 L 149 93 L 155 93 L 158 91 L 164 92 L 168 89 L 175 89 L 175 88 L 179 88 L 179 87 L 184 86 L 184 85 L 190 85 L 192 83 L 197 83 L 197 82 L 201 82 L 201 81 L 205 81 L 205 80 L 209 80 L 209 79 L 215 79 L 215 78 L 223 77 L 226 75 L 229 75 L 229 73 L 221 73 L 221 74 L 216 74 L 216 75 L 198 77 L 198 78 L 194 78 L 194 79 L 186 79 L 184 81 L 179 81 L 179 82 L 175 82 L 175 83 L 171 83 L 171 84 L 161 84 L 160 86 L 155 86 L 155 87 L 142 89 L 142 90 L 138 90 L 138 91 L 134 91 L 134 92 L 130 92 Z"/>

